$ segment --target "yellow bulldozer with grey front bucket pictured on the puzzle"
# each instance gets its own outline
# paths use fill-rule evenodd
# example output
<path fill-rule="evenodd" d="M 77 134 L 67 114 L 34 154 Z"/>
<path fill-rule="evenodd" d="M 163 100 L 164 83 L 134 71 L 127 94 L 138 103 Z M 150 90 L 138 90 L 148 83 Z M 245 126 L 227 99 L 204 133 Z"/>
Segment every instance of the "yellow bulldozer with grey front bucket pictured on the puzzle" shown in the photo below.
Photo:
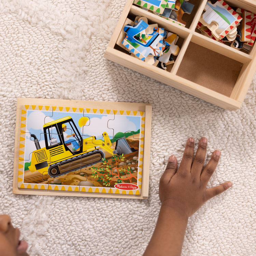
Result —
<path fill-rule="evenodd" d="M 112 155 L 126 155 L 134 152 L 125 137 L 118 138 L 115 149 L 106 132 L 102 139 L 95 136 L 83 138 L 70 116 L 43 125 L 45 147 L 41 148 L 37 137 L 33 138 L 36 150 L 32 152 L 31 172 L 39 171 L 57 177 L 86 166 L 101 162 L 103 150 Z M 101 148 L 101 149 L 100 149 Z"/>

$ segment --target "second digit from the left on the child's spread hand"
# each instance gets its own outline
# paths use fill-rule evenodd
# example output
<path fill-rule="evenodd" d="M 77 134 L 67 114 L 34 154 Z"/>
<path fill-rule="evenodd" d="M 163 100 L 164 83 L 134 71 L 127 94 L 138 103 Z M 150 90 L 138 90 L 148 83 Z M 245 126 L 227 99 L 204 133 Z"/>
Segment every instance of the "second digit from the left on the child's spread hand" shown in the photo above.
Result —
<path fill-rule="evenodd" d="M 187 140 L 183 157 L 181 160 L 180 168 L 178 170 L 178 173 L 182 175 L 186 175 L 186 173 L 190 172 L 191 170 L 191 165 L 192 165 L 193 155 L 194 155 L 194 144 L 195 144 L 195 140 L 193 138 L 189 138 Z"/>

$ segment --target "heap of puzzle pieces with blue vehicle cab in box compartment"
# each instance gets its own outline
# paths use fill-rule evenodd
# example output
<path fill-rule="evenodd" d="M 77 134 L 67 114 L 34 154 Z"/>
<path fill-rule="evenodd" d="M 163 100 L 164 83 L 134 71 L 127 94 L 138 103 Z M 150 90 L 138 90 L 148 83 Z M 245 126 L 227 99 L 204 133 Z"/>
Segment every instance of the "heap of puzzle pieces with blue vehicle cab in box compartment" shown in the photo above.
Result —
<path fill-rule="evenodd" d="M 174 63 L 173 55 L 180 51 L 176 45 L 179 37 L 176 34 L 158 28 L 157 24 L 148 25 L 147 18 L 136 17 L 134 22 L 127 19 L 128 25 L 124 26 L 117 44 L 127 49 L 134 57 L 150 65 L 166 69 L 166 65 Z M 133 25 L 132 25 L 133 23 Z"/>

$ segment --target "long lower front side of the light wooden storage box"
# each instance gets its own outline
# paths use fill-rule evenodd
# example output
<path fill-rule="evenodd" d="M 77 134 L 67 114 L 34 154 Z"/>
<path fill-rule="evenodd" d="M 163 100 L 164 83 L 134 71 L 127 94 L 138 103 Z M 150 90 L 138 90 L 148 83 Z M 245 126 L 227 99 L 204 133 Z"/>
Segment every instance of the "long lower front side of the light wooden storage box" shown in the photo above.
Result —
<path fill-rule="evenodd" d="M 153 67 L 152 65 L 149 65 L 139 59 L 135 59 L 132 56 L 129 56 L 128 54 L 120 52 L 116 49 L 108 47 L 104 57 L 164 84 L 182 90 L 185 93 L 220 106 L 221 108 L 235 110 L 239 109 L 241 106 L 241 102 L 239 101 L 183 79 L 182 77 L 174 75 L 166 70 Z"/>

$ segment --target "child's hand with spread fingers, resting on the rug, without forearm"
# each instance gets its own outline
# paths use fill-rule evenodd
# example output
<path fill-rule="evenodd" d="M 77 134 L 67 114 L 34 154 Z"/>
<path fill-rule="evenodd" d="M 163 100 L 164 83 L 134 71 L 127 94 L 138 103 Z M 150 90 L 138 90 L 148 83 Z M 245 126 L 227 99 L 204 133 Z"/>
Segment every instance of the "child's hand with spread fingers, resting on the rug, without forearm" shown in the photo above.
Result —
<path fill-rule="evenodd" d="M 171 156 L 160 179 L 159 198 L 162 204 L 169 205 L 180 214 L 185 214 L 186 217 L 191 216 L 203 203 L 221 194 L 232 185 L 231 182 L 225 182 L 206 189 L 221 155 L 220 151 L 215 150 L 207 166 L 202 169 L 206 148 L 207 139 L 202 138 L 193 161 L 194 139 L 189 138 L 179 169 L 177 169 L 176 157 Z"/>

